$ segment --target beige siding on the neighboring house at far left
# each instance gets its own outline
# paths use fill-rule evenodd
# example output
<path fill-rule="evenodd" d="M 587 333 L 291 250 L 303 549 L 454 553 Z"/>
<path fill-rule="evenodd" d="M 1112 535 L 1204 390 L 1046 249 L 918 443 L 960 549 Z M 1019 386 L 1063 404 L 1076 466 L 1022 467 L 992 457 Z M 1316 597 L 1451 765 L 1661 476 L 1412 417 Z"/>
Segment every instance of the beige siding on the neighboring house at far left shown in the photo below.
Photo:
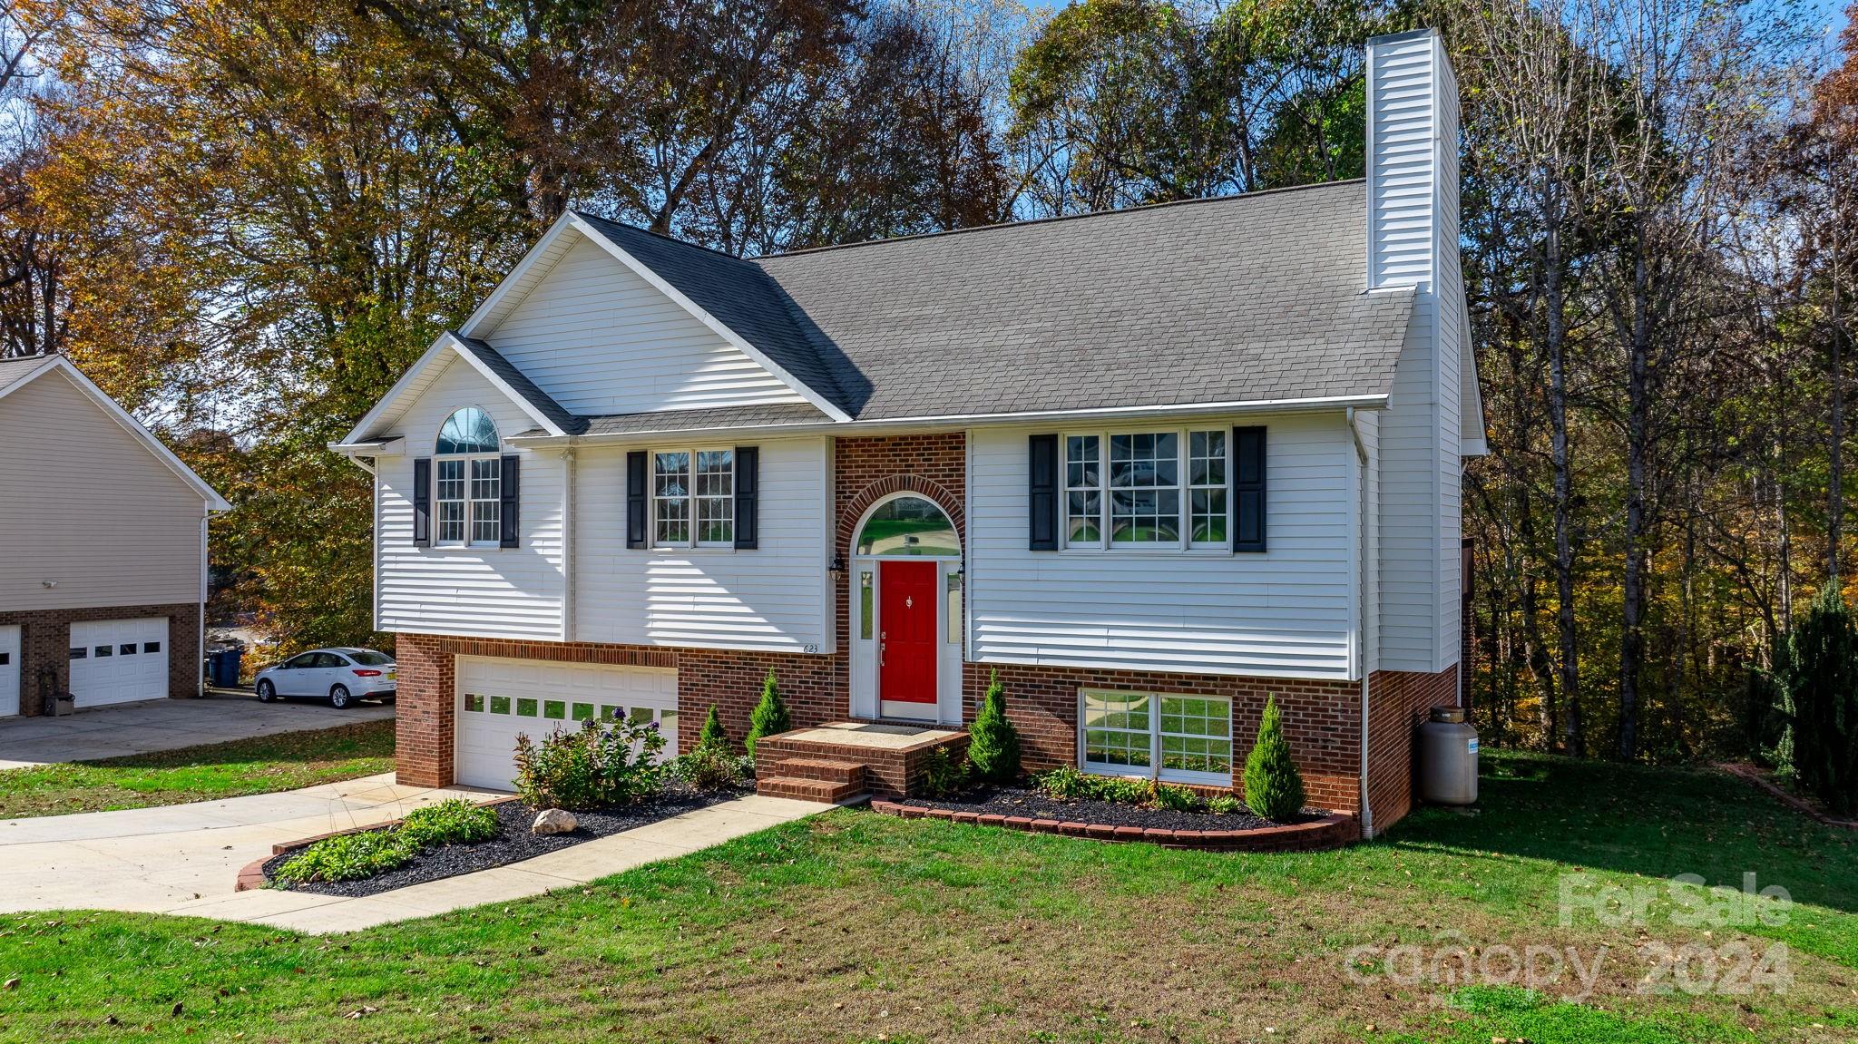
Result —
<path fill-rule="evenodd" d="M 204 500 L 69 377 L 0 399 L 0 609 L 201 600 Z"/>

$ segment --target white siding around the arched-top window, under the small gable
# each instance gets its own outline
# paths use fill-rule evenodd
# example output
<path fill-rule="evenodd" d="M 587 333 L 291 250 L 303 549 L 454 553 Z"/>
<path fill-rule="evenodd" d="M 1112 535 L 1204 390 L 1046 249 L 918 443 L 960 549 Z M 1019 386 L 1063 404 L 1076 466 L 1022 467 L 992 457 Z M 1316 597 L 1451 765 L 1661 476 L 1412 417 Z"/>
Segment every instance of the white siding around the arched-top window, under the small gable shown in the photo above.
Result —
<path fill-rule="evenodd" d="M 511 450 L 522 461 L 520 546 L 412 544 L 412 461 L 431 457 L 438 425 L 459 407 L 481 407 L 498 431 L 522 431 L 528 416 L 476 370 L 451 359 L 394 425 L 405 451 L 379 459 L 375 496 L 377 620 L 386 632 L 474 637 L 561 639 L 563 602 L 563 461 L 559 451 Z M 437 474 L 437 463 L 435 463 Z M 438 502 L 433 502 L 438 535 Z"/>

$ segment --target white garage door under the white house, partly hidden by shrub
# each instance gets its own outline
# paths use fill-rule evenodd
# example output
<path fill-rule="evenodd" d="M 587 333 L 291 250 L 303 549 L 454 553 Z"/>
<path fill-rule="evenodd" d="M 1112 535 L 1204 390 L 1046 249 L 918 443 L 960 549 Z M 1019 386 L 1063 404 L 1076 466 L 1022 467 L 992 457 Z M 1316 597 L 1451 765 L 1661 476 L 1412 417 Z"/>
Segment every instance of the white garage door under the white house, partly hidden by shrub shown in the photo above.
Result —
<path fill-rule="evenodd" d="M 678 749 L 678 672 L 539 659 L 457 659 L 455 776 L 464 786 L 509 790 L 517 736 L 541 739 L 585 719 L 656 721 L 665 754 Z"/>

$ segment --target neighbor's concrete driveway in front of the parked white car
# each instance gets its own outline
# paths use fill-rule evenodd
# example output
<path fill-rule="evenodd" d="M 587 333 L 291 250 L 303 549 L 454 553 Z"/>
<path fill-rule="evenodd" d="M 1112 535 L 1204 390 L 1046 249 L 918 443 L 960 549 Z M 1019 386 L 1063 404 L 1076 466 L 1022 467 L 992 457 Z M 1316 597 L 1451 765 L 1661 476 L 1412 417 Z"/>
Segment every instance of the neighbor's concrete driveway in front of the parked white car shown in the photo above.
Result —
<path fill-rule="evenodd" d="M 95 762 L 390 717 L 394 704 L 331 710 L 314 700 L 260 704 L 253 695 L 227 693 L 204 700 L 117 704 L 65 717 L 0 717 L 0 769 Z"/>

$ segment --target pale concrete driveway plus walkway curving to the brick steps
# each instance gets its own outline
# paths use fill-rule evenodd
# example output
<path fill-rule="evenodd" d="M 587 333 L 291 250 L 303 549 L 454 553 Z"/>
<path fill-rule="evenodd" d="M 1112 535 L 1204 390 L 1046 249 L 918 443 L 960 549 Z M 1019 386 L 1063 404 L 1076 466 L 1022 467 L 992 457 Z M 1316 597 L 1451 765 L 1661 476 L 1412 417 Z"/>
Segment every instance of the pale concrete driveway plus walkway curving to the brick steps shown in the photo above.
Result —
<path fill-rule="evenodd" d="M 0 912 L 132 910 L 305 933 L 357 931 L 583 884 L 831 808 L 751 795 L 520 864 L 362 899 L 232 892 L 240 868 L 269 856 L 273 843 L 399 819 L 446 797 L 487 795 L 464 788 L 409 788 L 392 782 L 392 775 L 379 775 L 197 804 L 0 821 L 0 866 L 7 868 Z"/>

